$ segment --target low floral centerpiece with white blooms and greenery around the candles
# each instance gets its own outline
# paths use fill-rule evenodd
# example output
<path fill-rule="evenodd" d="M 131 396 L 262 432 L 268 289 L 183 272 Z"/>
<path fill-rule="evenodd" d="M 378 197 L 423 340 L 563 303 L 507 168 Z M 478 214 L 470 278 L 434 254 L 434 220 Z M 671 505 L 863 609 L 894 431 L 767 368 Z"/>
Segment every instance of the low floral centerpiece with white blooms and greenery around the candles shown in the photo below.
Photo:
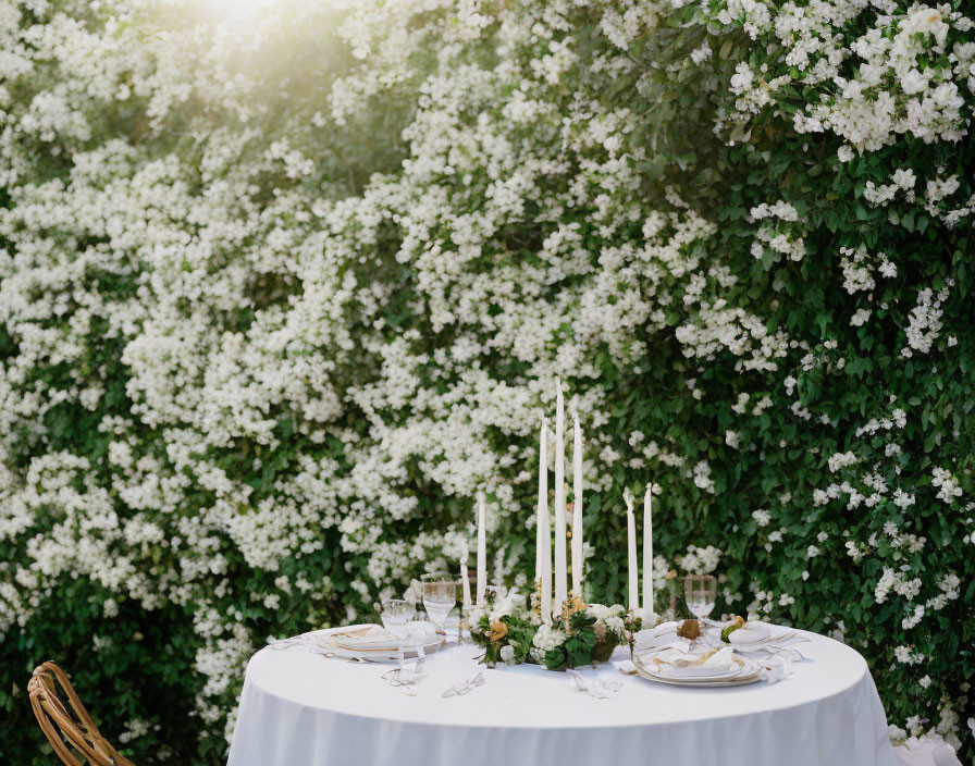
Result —
<path fill-rule="evenodd" d="M 572 596 L 561 614 L 544 622 L 517 591 L 489 594 L 469 621 L 471 638 L 484 647 L 485 664 L 532 663 L 550 670 L 606 662 L 641 625 L 639 616 L 619 604 L 584 604 Z"/>

